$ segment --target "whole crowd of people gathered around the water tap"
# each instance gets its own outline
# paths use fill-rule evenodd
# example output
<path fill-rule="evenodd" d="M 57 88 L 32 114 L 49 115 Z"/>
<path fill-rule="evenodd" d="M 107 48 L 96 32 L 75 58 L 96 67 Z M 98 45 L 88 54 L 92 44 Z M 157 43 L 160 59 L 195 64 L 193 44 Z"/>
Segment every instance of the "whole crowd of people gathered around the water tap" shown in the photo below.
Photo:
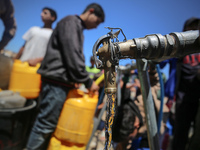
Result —
<path fill-rule="evenodd" d="M 5 25 L 0 50 L 15 35 L 16 22 L 11 15 L 13 13 L 12 2 L 0 0 L 0 17 Z M 30 131 L 26 150 L 47 149 L 63 104 L 72 88 L 78 88 L 80 84 L 84 84 L 85 88 L 93 94 L 102 93 L 103 89 L 103 84 L 98 86 L 95 83 L 95 79 L 103 73 L 103 70 L 95 68 L 93 57 L 90 59 L 91 66 L 86 66 L 83 52 L 83 31 L 96 28 L 105 21 L 103 8 L 97 3 L 89 4 L 82 14 L 62 18 L 55 29 L 52 28 L 52 24 L 57 19 L 55 10 L 44 7 L 41 17 L 43 27 L 31 27 L 23 35 L 25 44 L 15 57 L 22 62 L 27 61 L 30 66 L 41 64 L 37 71 L 42 80 L 38 100 L 39 111 Z M 198 30 L 199 25 L 199 18 L 189 18 L 183 26 L 183 31 Z M 163 117 L 159 128 L 159 145 L 162 150 L 200 149 L 198 142 L 200 136 L 200 93 L 198 93 L 200 54 L 149 64 L 149 78 L 157 120 L 161 109 L 161 85 L 156 65 L 163 68 L 166 64 L 170 65 L 170 70 L 169 78 L 167 80 L 162 78 L 165 83 L 165 96 Z M 115 150 L 149 148 L 146 127 L 148 120 L 145 118 L 137 69 L 119 78 L 121 103 L 116 106 L 112 128 L 113 148 Z M 100 100 L 97 112 L 102 109 L 102 105 L 105 105 L 104 101 Z M 168 124 L 172 126 L 172 129 Z M 191 128 L 194 132 L 190 137 Z M 104 130 L 104 128 L 98 128 L 98 130 Z"/>

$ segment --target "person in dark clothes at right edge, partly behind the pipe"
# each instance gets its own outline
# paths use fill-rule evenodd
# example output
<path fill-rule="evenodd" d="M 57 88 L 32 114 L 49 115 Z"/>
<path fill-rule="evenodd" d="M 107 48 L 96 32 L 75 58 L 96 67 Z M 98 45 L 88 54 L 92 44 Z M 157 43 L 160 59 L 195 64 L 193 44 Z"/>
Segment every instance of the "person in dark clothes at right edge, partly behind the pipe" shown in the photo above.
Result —
<path fill-rule="evenodd" d="M 197 30 L 199 18 L 185 22 L 183 31 Z M 188 133 L 194 122 L 200 99 L 200 53 L 186 55 L 177 62 L 176 113 L 174 124 L 173 150 L 185 150 Z"/>

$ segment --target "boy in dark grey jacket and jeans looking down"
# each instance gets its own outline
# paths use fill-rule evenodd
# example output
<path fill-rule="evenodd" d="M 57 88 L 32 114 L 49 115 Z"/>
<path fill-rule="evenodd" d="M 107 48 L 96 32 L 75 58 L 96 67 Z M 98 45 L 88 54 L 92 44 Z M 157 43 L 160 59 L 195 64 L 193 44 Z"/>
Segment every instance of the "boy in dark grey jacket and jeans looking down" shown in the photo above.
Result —
<path fill-rule="evenodd" d="M 47 148 L 68 92 L 75 83 L 84 83 L 91 92 L 98 91 L 99 87 L 85 70 L 83 30 L 96 28 L 104 18 L 102 7 L 92 3 L 80 16 L 67 16 L 58 22 L 38 70 L 42 77 L 42 99 L 28 150 Z"/>

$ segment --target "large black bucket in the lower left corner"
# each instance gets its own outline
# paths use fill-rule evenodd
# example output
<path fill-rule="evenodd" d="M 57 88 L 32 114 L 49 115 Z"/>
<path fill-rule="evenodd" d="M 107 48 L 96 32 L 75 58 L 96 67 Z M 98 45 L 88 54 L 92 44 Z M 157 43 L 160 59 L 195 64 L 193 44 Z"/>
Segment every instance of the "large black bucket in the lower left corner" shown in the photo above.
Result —
<path fill-rule="evenodd" d="M 0 149 L 22 150 L 36 102 L 27 101 L 23 108 L 0 109 Z"/>

